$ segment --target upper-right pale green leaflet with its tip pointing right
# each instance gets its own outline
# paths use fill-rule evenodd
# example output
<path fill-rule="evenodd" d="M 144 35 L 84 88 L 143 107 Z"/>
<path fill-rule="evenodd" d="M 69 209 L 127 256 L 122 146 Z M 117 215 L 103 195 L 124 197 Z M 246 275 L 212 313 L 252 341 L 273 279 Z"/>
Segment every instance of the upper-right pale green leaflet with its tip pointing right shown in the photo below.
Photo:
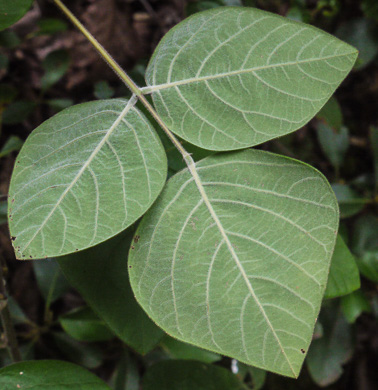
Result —
<path fill-rule="evenodd" d="M 314 27 L 253 8 L 216 8 L 165 35 L 145 91 L 183 139 L 242 149 L 302 127 L 356 58 L 355 48 Z"/>

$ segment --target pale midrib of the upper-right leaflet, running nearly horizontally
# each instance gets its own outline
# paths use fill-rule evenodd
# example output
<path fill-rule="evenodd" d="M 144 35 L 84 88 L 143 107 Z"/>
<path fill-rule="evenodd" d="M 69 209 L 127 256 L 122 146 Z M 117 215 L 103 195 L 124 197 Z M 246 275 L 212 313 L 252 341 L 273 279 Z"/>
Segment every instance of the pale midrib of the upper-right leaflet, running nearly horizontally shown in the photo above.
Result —
<path fill-rule="evenodd" d="M 254 72 L 257 72 L 259 70 L 280 68 L 283 66 L 293 66 L 293 65 L 307 64 L 307 63 L 311 63 L 311 62 L 324 61 L 324 60 L 329 60 L 329 59 L 333 59 L 333 58 L 349 56 L 351 54 L 355 54 L 355 53 L 354 52 L 343 53 L 343 54 L 337 54 L 337 55 L 332 55 L 332 56 L 327 56 L 327 57 L 322 57 L 322 58 L 313 58 L 313 59 L 307 59 L 307 60 L 302 60 L 302 61 L 285 62 L 282 64 L 271 64 L 271 65 L 257 66 L 255 68 L 249 68 L 249 69 L 238 69 L 238 70 L 219 73 L 219 74 L 210 75 L 210 76 L 192 77 L 192 78 L 188 78 L 188 79 L 184 79 L 184 80 L 173 81 L 170 83 L 147 86 L 147 87 L 141 88 L 141 91 L 144 94 L 149 94 L 149 93 L 152 93 L 155 91 L 160 91 L 162 89 L 169 89 L 169 88 L 176 87 L 179 85 L 187 85 L 187 84 L 192 84 L 192 83 L 198 83 L 201 81 L 216 80 L 216 79 L 222 78 L 222 77 L 239 76 L 239 75 L 245 74 L 245 73 L 254 73 Z"/>

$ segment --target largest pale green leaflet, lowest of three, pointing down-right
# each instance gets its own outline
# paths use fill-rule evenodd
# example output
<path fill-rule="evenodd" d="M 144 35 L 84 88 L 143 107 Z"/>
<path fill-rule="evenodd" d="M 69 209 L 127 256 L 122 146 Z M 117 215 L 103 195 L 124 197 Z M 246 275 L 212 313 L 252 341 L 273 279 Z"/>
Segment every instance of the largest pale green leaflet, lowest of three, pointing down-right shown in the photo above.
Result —
<path fill-rule="evenodd" d="M 135 296 L 171 336 L 295 377 L 314 329 L 338 227 L 324 177 L 247 150 L 201 160 L 204 198 L 176 174 L 129 253 Z"/>

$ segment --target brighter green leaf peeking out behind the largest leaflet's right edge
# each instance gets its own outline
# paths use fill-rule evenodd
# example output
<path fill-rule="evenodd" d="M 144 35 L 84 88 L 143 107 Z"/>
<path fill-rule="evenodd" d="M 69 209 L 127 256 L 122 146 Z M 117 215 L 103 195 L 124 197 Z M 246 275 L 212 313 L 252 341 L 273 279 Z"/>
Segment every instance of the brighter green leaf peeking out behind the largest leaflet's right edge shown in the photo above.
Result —
<path fill-rule="evenodd" d="M 360 288 L 360 273 L 356 261 L 341 236 L 338 235 L 324 298 L 347 295 L 358 288 Z"/>

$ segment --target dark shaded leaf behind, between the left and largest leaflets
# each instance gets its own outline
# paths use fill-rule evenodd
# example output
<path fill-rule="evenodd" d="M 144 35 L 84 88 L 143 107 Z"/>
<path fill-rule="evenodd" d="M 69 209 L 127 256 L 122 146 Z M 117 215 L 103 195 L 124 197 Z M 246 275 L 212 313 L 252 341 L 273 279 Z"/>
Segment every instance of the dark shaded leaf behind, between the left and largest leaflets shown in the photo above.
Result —
<path fill-rule="evenodd" d="M 127 234 L 127 233 L 126 233 Z M 131 237 L 125 233 L 59 259 L 68 279 L 109 328 L 137 352 L 149 352 L 163 332 L 135 301 L 127 273 Z"/>

